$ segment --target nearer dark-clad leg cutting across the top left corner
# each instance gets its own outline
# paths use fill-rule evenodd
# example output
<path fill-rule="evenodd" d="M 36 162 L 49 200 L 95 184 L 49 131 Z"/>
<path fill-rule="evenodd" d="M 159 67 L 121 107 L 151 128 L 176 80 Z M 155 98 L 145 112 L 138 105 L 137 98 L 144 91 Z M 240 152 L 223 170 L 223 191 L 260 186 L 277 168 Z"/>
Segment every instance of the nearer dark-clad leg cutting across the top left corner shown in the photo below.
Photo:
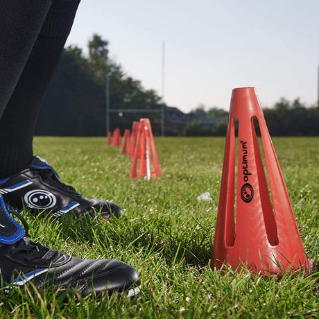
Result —
<path fill-rule="evenodd" d="M 51 0 L 0 1 L 0 117 L 42 28 Z"/>

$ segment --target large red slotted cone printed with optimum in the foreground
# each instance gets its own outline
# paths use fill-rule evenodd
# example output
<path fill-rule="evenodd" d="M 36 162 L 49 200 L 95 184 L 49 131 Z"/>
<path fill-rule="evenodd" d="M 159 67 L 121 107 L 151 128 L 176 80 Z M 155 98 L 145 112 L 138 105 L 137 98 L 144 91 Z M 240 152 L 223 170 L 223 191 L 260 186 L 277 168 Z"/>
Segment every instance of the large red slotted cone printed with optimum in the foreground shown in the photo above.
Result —
<path fill-rule="evenodd" d="M 257 118 L 271 191 L 253 123 Z M 235 134 L 239 122 L 234 221 Z M 272 205 L 272 202 L 273 205 Z M 302 268 L 311 272 L 273 143 L 254 87 L 234 89 L 230 103 L 221 194 L 218 205 L 212 268 L 246 265 L 265 275 Z"/>

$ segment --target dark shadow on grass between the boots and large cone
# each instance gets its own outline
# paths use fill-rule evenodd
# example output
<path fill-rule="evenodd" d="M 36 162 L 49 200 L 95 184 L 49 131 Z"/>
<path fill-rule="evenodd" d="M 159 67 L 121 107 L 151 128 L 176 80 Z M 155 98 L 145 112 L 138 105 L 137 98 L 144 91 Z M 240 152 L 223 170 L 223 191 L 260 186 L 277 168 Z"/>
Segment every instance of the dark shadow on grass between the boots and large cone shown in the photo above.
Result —
<path fill-rule="evenodd" d="M 74 243 L 94 243 L 105 252 L 110 247 L 135 252 L 160 252 L 166 264 L 182 261 L 187 266 L 207 266 L 212 257 L 212 231 L 196 230 L 180 232 L 176 227 L 162 219 L 156 225 L 145 221 L 128 221 L 128 218 L 89 218 L 81 216 L 62 216 L 59 221 L 60 234 Z"/>

